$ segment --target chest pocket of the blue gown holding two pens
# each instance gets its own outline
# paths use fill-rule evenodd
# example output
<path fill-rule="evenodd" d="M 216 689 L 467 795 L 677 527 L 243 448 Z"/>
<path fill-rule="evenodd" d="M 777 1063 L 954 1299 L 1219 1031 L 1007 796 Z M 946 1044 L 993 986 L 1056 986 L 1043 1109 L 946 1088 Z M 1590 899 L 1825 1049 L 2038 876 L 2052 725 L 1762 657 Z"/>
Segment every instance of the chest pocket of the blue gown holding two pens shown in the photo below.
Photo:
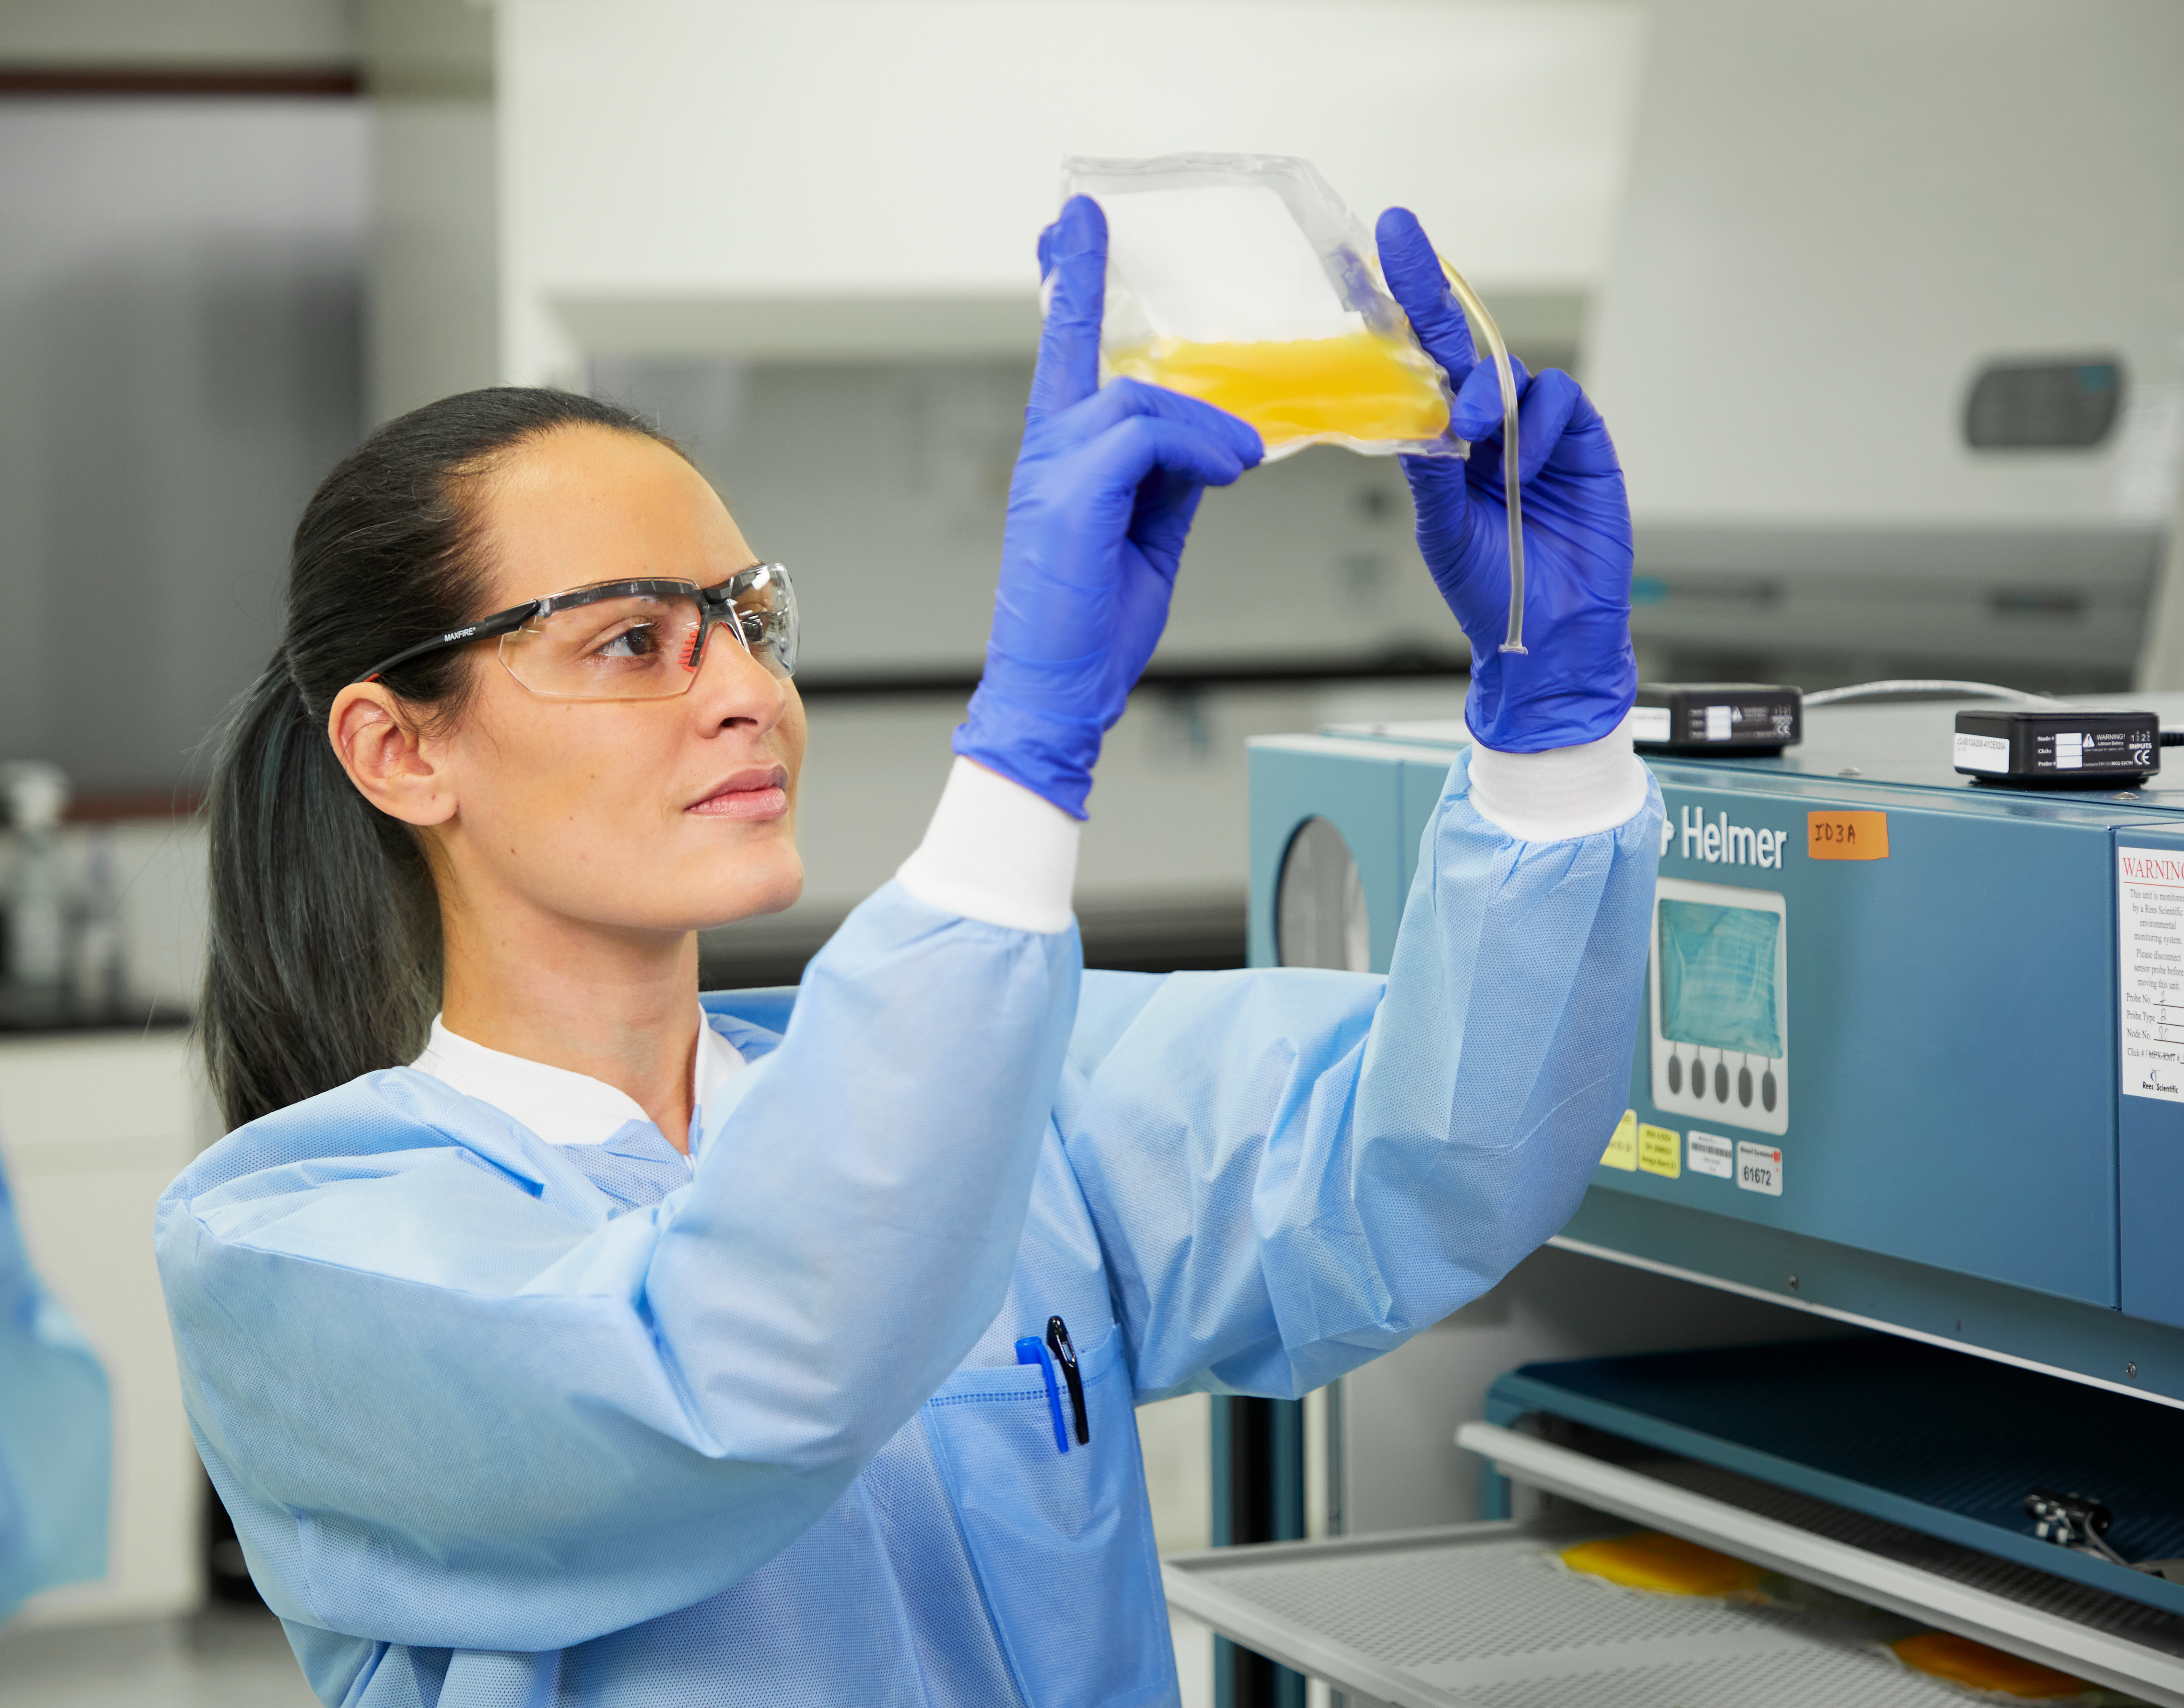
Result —
<path fill-rule="evenodd" d="M 1070 1450 L 1055 1448 L 1037 1365 L 959 1369 L 926 1400 L 926 1437 L 1029 1708 L 1168 1704 L 1175 1656 L 1123 1332 L 1077 1359 L 1088 1446 L 1070 1431 Z"/>

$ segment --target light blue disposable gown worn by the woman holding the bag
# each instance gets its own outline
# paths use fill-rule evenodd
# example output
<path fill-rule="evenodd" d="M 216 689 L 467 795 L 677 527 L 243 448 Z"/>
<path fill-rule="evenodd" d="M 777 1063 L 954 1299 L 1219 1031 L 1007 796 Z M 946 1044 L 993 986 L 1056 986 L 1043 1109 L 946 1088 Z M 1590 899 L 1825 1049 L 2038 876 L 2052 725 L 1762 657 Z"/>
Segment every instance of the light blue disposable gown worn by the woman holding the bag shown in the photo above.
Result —
<path fill-rule="evenodd" d="M 695 1169 L 367 1075 L 162 1201 L 197 1442 L 319 1697 L 1166 1704 L 1131 1407 L 1297 1396 L 1492 1286 L 1625 1103 L 1660 802 L 1426 830 L 1387 978 L 1081 974 L 865 902 Z M 1059 1315 L 1090 1446 L 1016 1341 Z"/>

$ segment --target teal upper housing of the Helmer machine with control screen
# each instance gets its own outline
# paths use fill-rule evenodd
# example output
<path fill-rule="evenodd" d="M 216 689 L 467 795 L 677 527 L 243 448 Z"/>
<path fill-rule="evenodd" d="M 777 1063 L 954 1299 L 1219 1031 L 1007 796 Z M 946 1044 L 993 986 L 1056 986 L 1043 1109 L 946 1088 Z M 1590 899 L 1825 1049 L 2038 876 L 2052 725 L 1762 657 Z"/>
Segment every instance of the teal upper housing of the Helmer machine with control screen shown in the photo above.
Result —
<path fill-rule="evenodd" d="M 1566 1243 L 2184 1400 L 2184 775 L 1972 784 L 1952 712 L 1653 762 L 1629 1116 Z M 1387 968 L 1461 745 L 1251 747 L 1254 963 Z"/>

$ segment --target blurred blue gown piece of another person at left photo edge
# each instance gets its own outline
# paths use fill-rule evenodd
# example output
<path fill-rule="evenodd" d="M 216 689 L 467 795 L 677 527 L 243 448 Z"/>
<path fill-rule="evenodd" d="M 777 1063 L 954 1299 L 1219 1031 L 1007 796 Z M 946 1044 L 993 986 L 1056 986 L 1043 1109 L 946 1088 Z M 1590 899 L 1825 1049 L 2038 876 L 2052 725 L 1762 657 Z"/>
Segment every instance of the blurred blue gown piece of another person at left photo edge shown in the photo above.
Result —
<path fill-rule="evenodd" d="M 111 1476 L 105 1365 L 31 1271 L 0 1171 L 0 1621 L 107 1575 Z"/>

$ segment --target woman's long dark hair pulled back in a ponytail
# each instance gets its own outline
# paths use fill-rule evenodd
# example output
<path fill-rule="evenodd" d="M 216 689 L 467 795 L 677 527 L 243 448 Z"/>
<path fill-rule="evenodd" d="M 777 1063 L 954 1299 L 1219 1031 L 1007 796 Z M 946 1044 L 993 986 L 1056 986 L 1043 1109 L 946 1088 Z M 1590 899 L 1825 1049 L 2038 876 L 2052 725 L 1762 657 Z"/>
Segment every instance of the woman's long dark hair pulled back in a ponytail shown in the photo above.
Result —
<path fill-rule="evenodd" d="M 207 795 L 199 1031 L 229 1127 L 424 1048 L 441 994 L 432 876 L 415 832 L 341 769 L 325 714 L 382 657 L 485 616 L 474 487 L 505 452 L 568 426 L 675 448 L 629 411 L 568 391 L 465 391 L 378 428 L 304 507 L 286 633 L 229 710 Z M 428 653 L 384 681 L 422 721 L 446 721 L 470 653 Z"/>

